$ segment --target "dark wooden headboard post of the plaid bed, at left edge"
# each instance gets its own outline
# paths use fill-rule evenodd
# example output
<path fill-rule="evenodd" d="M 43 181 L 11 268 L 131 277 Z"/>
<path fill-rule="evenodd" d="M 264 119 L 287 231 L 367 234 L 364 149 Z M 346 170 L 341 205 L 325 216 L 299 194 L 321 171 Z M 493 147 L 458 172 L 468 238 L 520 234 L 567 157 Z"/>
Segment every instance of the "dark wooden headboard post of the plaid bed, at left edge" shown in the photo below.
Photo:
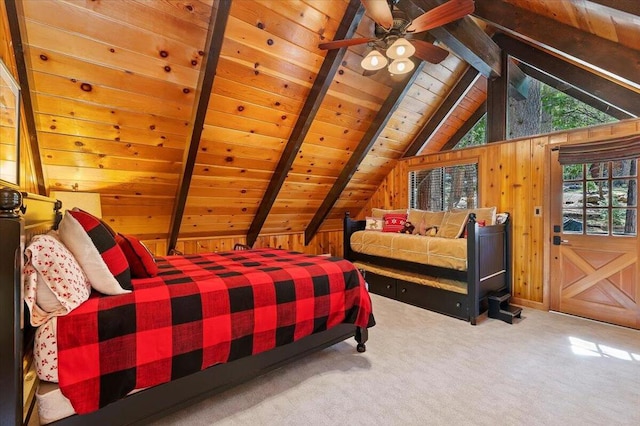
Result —
<path fill-rule="evenodd" d="M 0 189 L 0 424 L 22 424 L 22 194 Z M 9 326 L 12 324 L 12 326 Z"/>

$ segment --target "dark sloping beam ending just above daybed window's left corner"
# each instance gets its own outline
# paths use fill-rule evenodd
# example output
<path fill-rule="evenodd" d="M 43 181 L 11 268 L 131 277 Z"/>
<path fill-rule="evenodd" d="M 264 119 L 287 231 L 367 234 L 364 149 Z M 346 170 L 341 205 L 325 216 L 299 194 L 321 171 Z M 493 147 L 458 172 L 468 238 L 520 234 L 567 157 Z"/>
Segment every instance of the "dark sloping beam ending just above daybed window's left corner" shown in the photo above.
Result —
<path fill-rule="evenodd" d="M 422 127 L 420 133 L 413 139 L 413 142 L 411 142 L 411 145 L 409 145 L 409 148 L 405 151 L 403 158 L 418 155 L 427 142 L 427 139 L 442 125 L 444 120 L 449 116 L 451 111 L 454 110 L 469 89 L 473 87 L 473 83 L 479 77 L 480 74 L 477 69 L 473 67 L 467 68 L 467 71 L 460 77 L 460 80 L 458 80 L 453 89 L 449 91 L 449 94 L 442 104 L 440 104 L 440 107 L 438 107 L 429 121 Z"/>

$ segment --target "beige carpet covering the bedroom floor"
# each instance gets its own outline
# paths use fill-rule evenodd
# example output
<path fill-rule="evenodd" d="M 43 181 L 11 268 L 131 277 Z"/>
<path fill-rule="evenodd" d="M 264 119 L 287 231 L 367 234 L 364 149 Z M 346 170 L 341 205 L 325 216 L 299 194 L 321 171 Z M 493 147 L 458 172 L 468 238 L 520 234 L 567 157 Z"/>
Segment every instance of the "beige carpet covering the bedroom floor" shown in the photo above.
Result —
<path fill-rule="evenodd" d="M 477 326 L 373 295 L 342 342 L 161 425 L 639 425 L 640 332 L 525 309 Z"/>

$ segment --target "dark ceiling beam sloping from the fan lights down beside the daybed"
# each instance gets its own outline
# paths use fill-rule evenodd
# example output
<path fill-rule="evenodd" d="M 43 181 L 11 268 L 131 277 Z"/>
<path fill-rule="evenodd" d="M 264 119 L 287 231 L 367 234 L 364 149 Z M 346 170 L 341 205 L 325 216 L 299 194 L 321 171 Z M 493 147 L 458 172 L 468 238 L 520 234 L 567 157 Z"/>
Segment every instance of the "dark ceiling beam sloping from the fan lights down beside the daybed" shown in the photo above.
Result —
<path fill-rule="evenodd" d="M 413 72 L 408 76 L 406 82 L 397 82 L 396 86 L 393 88 L 389 96 L 384 101 L 380 110 L 376 114 L 375 118 L 369 125 L 369 128 L 362 136 L 362 139 L 358 143 L 358 146 L 353 151 L 353 154 L 345 164 L 342 172 L 338 176 L 338 179 L 333 184 L 327 196 L 322 201 L 322 204 L 318 208 L 318 211 L 313 216 L 309 225 L 304 231 L 304 244 L 308 245 L 311 242 L 311 239 L 316 235 L 320 225 L 327 217 L 334 204 L 342 194 L 342 191 L 347 187 L 347 184 L 358 170 L 358 166 L 362 163 L 362 160 L 369 153 L 371 147 L 375 144 L 376 140 L 380 136 L 380 133 L 385 129 L 387 123 L 391 119 L 391 116 L 398 109 L 400 103 L 404 99 L 404 96 L 407 94 L 413 82 L 416 80 L 418 75 L 422 72 L 425 63 L 421 62 L 414 69 Z"/>

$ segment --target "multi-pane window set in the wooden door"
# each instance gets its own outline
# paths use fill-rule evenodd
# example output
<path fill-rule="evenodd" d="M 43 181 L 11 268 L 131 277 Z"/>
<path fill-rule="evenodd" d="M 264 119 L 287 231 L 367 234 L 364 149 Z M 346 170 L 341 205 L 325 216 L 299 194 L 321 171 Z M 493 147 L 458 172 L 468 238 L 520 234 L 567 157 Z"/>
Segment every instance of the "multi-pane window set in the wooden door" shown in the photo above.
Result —
<path fill-rule="evenodd" d="M 563 165 L 563 232 L 635 236 L 637 167 L 635 159 Z"/>

